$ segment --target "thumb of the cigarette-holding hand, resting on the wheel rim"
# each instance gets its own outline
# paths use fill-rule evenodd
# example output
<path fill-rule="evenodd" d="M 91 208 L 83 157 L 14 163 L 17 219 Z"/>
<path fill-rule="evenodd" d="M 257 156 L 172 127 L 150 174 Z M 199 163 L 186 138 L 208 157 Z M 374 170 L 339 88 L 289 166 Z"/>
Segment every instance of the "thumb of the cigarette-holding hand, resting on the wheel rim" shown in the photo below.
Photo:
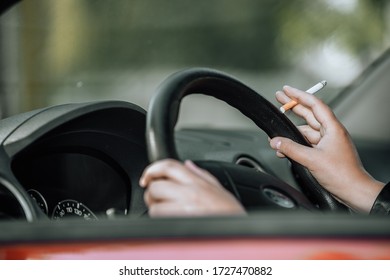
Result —
<path fill-rule="evenodd" d="M 275 137 L 270 141 L 271 148 L 276 150 L 278 156 L 286 156 L 299 164 L 308 167 L 314 150 L 292 141 L 289 138 Z"/>

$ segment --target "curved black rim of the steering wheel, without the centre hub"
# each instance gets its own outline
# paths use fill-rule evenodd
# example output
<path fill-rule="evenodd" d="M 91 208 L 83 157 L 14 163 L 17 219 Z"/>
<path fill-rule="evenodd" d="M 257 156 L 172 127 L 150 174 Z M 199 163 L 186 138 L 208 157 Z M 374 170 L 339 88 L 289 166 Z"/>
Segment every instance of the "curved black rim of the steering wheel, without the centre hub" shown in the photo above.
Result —
<path fill-rule="evenodd" d="M 288 137 L 310 146 L 297 127 L 272 103 L 237 79 L 208 68 L 192 68 L 169 76 L 157 89 L 147 114 L 146 141 L 151 162 L 179 159 L 174 139 L 182 99 L 190 94 L 205 94 L 226 102 L 252 120 L 273 138 Z M 304 166 L 291 160 L 292 170 L 303 193 L 322 210 L 344 210 Z"/>

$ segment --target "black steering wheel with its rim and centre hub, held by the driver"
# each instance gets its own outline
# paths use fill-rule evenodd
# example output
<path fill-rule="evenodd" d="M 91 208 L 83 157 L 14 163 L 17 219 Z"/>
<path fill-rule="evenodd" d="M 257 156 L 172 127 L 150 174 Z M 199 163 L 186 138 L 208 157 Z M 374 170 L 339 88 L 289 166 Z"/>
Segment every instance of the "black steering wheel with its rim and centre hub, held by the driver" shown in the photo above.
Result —
<path fill-rule="evenodd" d="M 271 138 L 288 137 L 297 143 L 310 146 L 296 126 L 254 90 L 225 73 L 207 68 L 192 68 L 168 77 L 151 100 L 146 124 L 148 157 L 151 162 L 166 158 L 180 160 L 174 139 L 180 104 L 185 96 L 199 93 L 213 96 L 236 108 Z M 274 205 L 277 208 L 331 211 L 346 209 L 316 181 L 309 170 L 290 161 L 302 193 L 271 175 L 252 172 L 247 167 L 222 162 L 197 163 L 215 175 L 244 206 L 265 203 L 267 207 Z M 245 186 L 246 189 L 249 186 L 255 191 L 257 202 L 253 202 L 253 199 L 243 201 L 240 186 Z M 249 196 L 252 197 L 251 194 Z"/>

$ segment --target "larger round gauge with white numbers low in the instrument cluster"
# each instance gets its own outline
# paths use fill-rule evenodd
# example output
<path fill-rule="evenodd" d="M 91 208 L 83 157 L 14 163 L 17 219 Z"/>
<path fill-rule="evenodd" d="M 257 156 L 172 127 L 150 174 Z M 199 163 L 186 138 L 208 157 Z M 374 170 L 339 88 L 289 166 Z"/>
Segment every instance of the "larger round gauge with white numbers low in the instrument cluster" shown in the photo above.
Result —
<path fill-rule="evenodd" d="M 97 220 L 95 214 L 93 214 L 87 206 L 72 199 L 60 201 L 53 210 L 53 220 L 60 220 L 66 217 L 79 217 L 84 220 Z"/>

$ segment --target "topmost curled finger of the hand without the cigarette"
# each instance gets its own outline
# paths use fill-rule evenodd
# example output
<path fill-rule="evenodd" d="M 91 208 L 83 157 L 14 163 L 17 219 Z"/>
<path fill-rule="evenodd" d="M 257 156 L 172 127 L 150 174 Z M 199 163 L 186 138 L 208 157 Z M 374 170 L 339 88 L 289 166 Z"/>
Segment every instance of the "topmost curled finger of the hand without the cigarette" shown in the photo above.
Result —
<path fill-rule="evenodd" d="M 149 165 L 140 178 L 140 185 L 147 186 L 156 179 L 169 179 L 178 183 L 186 184 L 191 182 L 193 174 L 179 161 L 165 159 Z"/>

